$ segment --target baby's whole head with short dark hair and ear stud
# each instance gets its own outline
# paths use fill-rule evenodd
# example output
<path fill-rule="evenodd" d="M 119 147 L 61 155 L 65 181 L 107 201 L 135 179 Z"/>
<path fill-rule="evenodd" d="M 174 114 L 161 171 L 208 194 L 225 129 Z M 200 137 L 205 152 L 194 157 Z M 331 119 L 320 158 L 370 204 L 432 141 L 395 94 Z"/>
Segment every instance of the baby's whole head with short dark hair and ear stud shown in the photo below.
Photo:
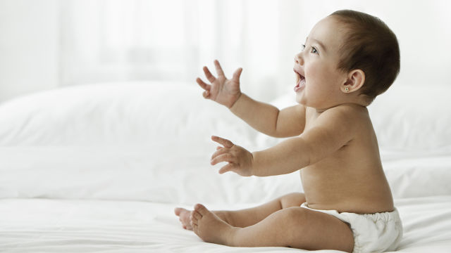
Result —
<path fill-rule="evenodd" d="M 295 56 L 295 91 L 299 103 L 314 108 L 340 103 L 369 105 L 400 72 L 395 34 L 366 13 L 332 13 L 315 25 L 304 47 L 306 50 Z"/>

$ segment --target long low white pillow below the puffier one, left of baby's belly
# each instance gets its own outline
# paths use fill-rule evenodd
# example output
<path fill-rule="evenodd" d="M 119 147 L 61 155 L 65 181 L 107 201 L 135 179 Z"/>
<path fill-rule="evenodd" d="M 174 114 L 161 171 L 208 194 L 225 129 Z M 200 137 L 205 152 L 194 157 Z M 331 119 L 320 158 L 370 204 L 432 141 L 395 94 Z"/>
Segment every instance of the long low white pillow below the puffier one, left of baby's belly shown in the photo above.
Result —
<path fill-rule="evenodd" d="M 0 147 L 0 198 L 264 202 L 302 190 L 299 174 L 220 175 L 214 146 L 177 140 L 132 146 Z"/>

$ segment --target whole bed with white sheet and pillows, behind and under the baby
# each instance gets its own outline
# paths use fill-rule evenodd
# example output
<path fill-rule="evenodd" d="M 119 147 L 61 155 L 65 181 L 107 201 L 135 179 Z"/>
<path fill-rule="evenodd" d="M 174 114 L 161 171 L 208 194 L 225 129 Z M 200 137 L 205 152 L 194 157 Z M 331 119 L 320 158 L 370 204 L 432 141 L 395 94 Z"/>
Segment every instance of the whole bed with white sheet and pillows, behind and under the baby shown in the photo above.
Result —
<path fill-rule="evenodd" d="M 369 107 L 404 224 L 398 252 L 451 252 L 450 93 L 395 84 Z M 302 251 L 214 245 L 183 230 L 174 207 L 240 209 L 302 191 L 297 173 L 219 175 L 213 134 L 249 150 L 280 141 L 194 84 L 89 84 L 1 103 L 0 252 Z"/>

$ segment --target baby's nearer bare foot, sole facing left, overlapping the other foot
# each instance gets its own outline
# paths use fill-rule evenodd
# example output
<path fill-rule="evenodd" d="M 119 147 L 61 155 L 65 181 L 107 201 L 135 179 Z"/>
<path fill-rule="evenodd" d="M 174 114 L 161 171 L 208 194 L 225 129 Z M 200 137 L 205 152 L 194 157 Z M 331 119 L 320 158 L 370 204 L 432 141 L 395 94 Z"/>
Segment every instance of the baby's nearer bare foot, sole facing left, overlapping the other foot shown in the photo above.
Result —
<path fill-rule="evenodd" d="M 192 230 L 205 242 L 230 245 L 233 227 L 219 219 L 203 205 L 197 204 L 191 213 Z"/>

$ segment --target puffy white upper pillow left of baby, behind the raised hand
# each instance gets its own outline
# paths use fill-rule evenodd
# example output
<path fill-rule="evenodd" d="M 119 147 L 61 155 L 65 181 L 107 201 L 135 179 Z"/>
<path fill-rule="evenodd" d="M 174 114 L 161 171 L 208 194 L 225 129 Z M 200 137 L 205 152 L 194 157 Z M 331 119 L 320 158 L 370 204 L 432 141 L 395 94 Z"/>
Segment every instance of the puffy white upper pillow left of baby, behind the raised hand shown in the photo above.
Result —
<path fill-rule="evenodd" d="M 213 134 L 252 145 L 255 132 L 194 84 L 91 84 L 0 105 L 0 145 L 197 143 Z"/>

